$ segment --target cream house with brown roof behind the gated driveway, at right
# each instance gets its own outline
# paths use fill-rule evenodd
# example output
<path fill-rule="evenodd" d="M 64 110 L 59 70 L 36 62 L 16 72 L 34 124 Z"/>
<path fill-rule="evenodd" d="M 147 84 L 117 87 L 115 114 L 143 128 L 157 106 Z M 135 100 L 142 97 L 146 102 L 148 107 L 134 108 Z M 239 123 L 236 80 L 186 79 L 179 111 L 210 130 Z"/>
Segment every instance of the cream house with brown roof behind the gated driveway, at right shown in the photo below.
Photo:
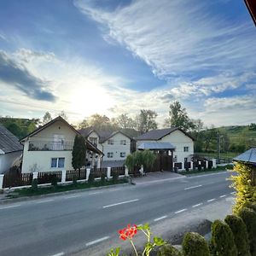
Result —
<path fill-rule="evenodd" d="M 171 143 L 173 162 L 186 162 L 189 155 L 194 154 L 194 139 L 188 133 L 177 128 L 152 130 L 136 138 L 137 148 L 143 143 Z"/>

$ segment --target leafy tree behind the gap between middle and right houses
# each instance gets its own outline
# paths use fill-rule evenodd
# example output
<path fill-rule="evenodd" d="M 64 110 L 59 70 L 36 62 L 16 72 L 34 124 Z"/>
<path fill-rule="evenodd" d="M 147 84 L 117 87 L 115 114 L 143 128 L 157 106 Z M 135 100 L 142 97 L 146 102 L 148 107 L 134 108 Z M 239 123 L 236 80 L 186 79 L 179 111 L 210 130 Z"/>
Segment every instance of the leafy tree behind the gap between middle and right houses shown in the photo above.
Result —
<path fill-rule="evenodd" d="M 157 129 L 157 123 L 155 121 L 157 113 L 149 109 L 141 109 L 141 112 L 137 115 L 137 130 L 140 133 L 148 132 L 149 130 Z"/>

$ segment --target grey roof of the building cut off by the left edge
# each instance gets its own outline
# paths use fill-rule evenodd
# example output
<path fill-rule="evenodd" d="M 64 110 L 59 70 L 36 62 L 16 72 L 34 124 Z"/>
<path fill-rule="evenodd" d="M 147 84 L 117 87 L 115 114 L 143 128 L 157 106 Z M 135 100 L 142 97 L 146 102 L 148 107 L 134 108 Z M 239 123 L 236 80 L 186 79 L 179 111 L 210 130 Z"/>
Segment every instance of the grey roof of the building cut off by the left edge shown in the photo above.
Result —
<path fill-rule="evenodd" d="M 21 151 L 23 149 L 19 140 L 9 130 L 0 124 L 0 150 L 5 154 L 15 151 Z"/>

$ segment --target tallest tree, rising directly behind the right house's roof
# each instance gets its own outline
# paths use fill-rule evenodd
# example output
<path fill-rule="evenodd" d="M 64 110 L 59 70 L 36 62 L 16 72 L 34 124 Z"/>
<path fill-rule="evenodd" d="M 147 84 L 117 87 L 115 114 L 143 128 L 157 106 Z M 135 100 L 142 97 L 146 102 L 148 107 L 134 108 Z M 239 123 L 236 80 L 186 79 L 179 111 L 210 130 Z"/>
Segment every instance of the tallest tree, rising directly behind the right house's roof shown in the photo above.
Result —
<path fill-rule="evenodd" d="M 189 119 L 186 108 L 182 108 L 181 104 L 177 101 L 172 102 L 170 105 L 169 119 L 166 119 L 166 126 L 179 127 L 184 131 L 195 128 L 193 121 Z"/>

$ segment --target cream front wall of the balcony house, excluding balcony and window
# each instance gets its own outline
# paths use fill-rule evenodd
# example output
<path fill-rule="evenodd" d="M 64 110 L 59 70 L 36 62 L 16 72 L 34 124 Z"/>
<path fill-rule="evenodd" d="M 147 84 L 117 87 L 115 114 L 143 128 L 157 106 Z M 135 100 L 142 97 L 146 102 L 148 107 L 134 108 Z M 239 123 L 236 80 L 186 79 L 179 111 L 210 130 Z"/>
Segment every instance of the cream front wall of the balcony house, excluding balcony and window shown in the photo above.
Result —
<path fill-rule="evenodd" d="M 40 131 L 37 135 L 30 137 L 28 141 L 24 143 L 21 172 L 32 172 L 32 167 L 35 164 L 38 166 L 38 172 L 73 170 L 72 150 L 28 151 L 30 141 L 39 141 L 45 143 L 53 142 L 55 134 L 63 136 L 64 142 L 73 142 L 74 137 L 76 136 L 75 131 L 73 131 L 70 127 L 61 121 L 57 121 L 53 125 L 45 128 L 43 131 Z M 64 167 L 51 168 L 51 158 L 60 157 L 65 158 Z"/>

